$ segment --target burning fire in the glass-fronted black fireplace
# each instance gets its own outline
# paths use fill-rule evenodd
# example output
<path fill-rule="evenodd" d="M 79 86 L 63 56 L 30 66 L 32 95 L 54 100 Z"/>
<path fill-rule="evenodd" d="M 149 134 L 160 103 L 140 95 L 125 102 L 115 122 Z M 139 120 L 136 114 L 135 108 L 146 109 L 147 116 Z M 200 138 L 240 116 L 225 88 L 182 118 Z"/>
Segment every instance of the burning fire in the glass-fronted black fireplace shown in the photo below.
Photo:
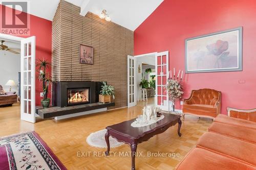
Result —
<path fill-rule="evenodd" d="M 72 88 L 68 90 L 68 105 L 90 103 L 90 88 Z"/>

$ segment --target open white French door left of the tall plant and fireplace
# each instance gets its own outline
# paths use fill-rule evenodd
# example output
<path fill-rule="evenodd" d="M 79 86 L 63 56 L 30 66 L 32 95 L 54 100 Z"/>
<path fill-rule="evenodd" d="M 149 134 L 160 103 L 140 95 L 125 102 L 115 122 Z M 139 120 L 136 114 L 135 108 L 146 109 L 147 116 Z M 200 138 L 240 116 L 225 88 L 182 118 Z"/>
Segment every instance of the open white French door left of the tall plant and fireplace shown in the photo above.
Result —
<path fill-rule="evenodd" d="M 35 36 L 20 42 L 20 119 L 35 123 Z"/>

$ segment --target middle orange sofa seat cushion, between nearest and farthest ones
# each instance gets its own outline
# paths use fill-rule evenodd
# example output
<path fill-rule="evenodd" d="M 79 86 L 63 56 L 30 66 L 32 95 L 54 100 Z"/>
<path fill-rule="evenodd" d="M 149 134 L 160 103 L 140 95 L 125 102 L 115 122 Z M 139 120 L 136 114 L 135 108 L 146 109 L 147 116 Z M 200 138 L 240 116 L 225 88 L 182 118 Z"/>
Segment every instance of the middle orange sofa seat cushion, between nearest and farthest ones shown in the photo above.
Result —
<path fill-rule="evenodd" d="M 197 148 L 206 149 L 256 166 L 256 144 L 243 140 L 206 132 L 199 138 Z"/>

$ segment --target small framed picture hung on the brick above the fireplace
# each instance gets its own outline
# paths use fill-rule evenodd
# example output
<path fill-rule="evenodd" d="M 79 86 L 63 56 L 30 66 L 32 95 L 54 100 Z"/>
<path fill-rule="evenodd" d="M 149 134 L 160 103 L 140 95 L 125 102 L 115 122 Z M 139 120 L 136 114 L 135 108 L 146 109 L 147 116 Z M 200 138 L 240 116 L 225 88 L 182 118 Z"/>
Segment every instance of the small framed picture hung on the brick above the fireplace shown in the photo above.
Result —
<path fill-rule="evenodd" d="M 80 44 L 80 63 L 93 65 L 93 47 Z"/>

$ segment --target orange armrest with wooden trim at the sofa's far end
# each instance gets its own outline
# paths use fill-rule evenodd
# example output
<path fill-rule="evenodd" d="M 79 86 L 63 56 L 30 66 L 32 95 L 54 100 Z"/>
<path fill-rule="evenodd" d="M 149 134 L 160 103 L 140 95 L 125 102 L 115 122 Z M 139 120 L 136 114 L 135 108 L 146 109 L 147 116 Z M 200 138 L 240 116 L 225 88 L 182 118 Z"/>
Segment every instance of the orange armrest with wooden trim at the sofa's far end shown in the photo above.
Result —
<path fill-rule="evenodd" d="M 256 122 L 256 109 L 244 110 L 227 107 L 227 115 L 234 118 L 241 118 Z"/>

